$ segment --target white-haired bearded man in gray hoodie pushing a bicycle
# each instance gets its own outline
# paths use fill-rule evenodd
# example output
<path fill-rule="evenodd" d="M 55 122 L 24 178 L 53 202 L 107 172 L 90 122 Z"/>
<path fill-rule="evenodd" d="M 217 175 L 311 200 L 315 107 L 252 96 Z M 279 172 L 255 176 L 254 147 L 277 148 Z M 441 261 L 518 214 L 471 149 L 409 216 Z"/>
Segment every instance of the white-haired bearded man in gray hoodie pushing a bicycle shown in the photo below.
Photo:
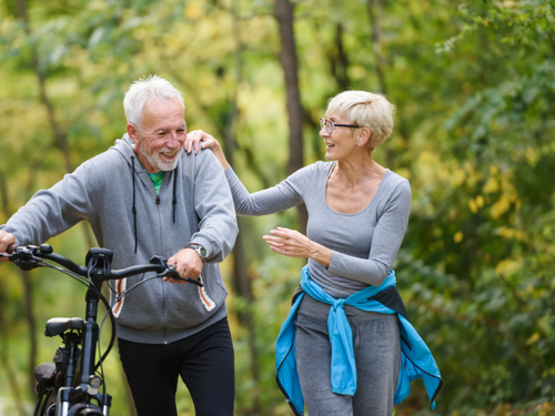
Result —
<path fill-rule="evenodd" d="M 233 415 L 228 292 L 216 264 L 238 233 L 231 192 L 212 152 L 183 152 L 183 98 L 170 82 L 135 81 L 123 106 L 128 133 L 1 225 L 0 252 L 85 220 L 113 251 L 114 268 L 160 255 L 182 277 L 202 278 L 203 287 L 151 280 L 122 296 L 113 306 L 120 357 L 140 416 L 176 415 L 180 375 L 196 415 Z M 117 292 L 145 278 L 119 281 Z"/>

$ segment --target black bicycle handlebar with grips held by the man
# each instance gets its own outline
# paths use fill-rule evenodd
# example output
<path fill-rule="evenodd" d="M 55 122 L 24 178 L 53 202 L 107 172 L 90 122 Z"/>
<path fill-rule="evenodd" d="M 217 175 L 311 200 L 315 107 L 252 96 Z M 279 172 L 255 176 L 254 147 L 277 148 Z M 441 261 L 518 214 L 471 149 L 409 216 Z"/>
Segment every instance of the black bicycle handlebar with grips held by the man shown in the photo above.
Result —
<path fill-rule="evenodd" d="M 97 256 L 91 255 L 93 251 L 94 253 L 100 252 L 100 257 L 109 257 L 107 262 L 108 267 L 104 267 L 100 272 L 98 271 L 98 267 L 94 267 L 93 265 L 80 266 L 73 263 L 68 257 L 53 253 L 52 246 L 48 244 L 42 244 L 40 247 L 36 245 L 18 246 L 16 247 L 16 250 L 13 250 L 11 254 L 0 253 L 0 257 L 4 257 L 12 261 L 13 263 L 16 263 L 16 265 L 18 265 L 22 270 L 31 270 L 34 267 L 39 267 L 40 264 L 39 261 L 37 260 L 37 257 L 39 257 L 56 262 L 62 267 L 69 270 L 70 272 L 73 272 L 83 277 L 88 277 L 91 275 L 91 273 L 93 273 L 95 277 L 108 281 L 108 280 L 120 280 L 147 272 L 157 272 L 159 277 L 167 276 L 175 281 L 192 283 L 200 287 L 203 286 L 201 280 L 181 277 L 175 267 L 171 264 L 168 264 L 167 260 L 160 256 L 153 256 L 150 260 L 150 264 L 135 265 L 122 270 L 111 270 L 110 262 L 112 252 L 105 248 L 91 248 L 91 251 L 89 251 L 89 254 L 87 255 L 88 262 L 90 257 L 94 258 L 99 257 L 98 254 Z"/>

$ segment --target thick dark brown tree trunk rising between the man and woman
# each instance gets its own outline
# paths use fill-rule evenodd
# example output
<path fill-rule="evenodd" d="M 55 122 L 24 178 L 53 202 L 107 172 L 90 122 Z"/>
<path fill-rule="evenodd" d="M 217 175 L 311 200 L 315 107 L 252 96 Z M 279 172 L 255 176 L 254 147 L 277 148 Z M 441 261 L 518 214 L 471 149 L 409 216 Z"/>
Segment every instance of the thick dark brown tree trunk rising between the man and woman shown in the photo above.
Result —
<path fill-rule="evenodd" d="M 285 92 L 289 114 L 289 162 L 287 173 L 292 174 L 304 165 L 303 160 L 303 119 L 299 90 L 299 63 L 296 58 L 295 34 L 293 31 L 293 4 L 290 0 L 275 0 L 275 19 L 280 27 L 281 64 L 285 77 Z M 299 229 L 306 234 L 309 214 L 304 204 L 297 207 Z"/>

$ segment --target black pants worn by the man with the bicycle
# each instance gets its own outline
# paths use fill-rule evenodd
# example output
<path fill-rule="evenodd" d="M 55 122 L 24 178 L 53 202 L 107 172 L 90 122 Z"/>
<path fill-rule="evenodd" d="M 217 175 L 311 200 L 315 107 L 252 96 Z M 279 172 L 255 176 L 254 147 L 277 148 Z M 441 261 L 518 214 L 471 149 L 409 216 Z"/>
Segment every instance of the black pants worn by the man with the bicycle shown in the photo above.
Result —
<path fill-rule="evenodd" d="M 139 416 L 178 415 L 179 375 L 191 393 L 196 416 L 233 415 L 235 371 L 228 318 L 167 345 L 118 341 Z"/>

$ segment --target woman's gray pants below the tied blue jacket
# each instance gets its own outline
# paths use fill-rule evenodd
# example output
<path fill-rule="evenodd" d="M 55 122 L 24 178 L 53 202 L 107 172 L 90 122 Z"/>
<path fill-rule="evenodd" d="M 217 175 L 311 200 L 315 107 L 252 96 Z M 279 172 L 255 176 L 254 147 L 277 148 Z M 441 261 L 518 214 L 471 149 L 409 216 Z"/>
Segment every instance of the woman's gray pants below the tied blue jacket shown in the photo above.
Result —
<path fill-rule="evenodd" d="M 305 294 L 296 315 L 295 354 L 310 416 L 390 416 L 401 367 L 397 316 L 345 305 L 353 331 L 357 387 L 354 396 L 331 386 L 330 305 Z"/>

